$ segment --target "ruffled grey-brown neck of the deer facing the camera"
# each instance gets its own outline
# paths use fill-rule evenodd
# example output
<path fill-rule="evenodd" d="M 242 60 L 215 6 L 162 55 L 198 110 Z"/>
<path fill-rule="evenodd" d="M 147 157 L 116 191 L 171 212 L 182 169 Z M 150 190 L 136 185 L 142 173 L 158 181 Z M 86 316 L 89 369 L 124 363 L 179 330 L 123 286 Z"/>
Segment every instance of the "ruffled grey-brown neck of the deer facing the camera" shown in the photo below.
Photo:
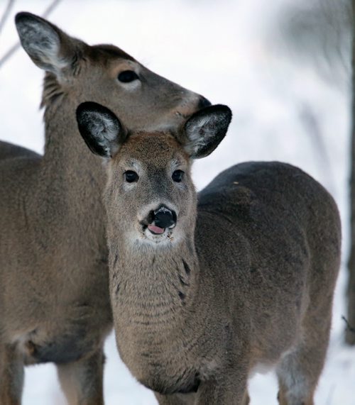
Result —
<path fill-rule="evenodd" d="M 131 334 L 142 327 L 153 332 L 182 321 L 196 299 L 200 272 L 193 231 L 162 247 L 138 241 L 131 245 L 122 238 L 109 249 L 117 331 Z"/>

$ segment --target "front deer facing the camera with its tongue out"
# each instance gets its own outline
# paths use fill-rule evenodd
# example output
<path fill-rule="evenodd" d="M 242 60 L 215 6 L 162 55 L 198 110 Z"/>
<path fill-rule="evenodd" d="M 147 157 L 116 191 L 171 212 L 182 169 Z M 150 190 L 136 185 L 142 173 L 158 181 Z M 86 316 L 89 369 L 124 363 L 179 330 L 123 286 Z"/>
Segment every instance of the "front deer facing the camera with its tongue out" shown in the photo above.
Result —
<path fill-rule="evenodd" d="M 116 345 L 160 405 L 249 404 L 249 377 L 271 367 L 281 405 L 312 405 L 339 271 L 337 205 L 282 162 L 234 165 L 197 194 L 192 162 L 230 121 L 215 105 L 175 131 L 132 131 L 106 106 L 78 106 L 107 167 Z"/>

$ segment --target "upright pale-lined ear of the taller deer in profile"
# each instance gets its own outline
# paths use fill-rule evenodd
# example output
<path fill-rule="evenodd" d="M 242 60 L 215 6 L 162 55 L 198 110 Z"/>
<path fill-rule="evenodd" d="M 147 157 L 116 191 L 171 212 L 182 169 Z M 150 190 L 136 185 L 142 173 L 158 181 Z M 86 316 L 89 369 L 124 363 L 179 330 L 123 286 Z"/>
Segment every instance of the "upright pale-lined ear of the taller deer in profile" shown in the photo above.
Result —
<path fill-rule="evenodd" d="M 16 14 L 15 23 L 21 45 L 35 65 L 58 77 L 66 67 L 75 70 L 75 62 L 87 46 L 82 41 L 31 13 Z"/>

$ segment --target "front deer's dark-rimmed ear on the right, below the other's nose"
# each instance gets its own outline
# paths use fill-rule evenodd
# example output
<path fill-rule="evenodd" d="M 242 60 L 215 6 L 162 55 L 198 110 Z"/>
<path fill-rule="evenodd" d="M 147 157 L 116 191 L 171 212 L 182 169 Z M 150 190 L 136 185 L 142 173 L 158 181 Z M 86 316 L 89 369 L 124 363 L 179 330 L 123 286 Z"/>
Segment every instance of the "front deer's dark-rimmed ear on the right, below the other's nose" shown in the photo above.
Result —
<path fill-rule="evenodd" d="M 231 122 L 231 110 L 217 104 L 197 111 L 185 123 L 185 150 L 192 159 L 208 156 L 217 148 Z"/>

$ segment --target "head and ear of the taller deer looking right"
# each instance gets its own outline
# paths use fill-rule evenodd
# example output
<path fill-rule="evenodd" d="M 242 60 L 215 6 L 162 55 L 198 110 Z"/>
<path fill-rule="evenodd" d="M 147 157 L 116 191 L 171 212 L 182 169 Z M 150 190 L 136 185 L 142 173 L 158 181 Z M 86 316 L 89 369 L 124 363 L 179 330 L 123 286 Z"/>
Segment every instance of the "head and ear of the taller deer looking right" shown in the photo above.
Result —
<path fill-rule="evenodd" d="M 47 72 L 43 104 L 67 97 L 71 105 L 109 106 L 131 130 L 176 128 L 207 99 L 148 70 L 113 45 L 89 46 L 31 13 L 18 13 L 23 48 Z"/>

